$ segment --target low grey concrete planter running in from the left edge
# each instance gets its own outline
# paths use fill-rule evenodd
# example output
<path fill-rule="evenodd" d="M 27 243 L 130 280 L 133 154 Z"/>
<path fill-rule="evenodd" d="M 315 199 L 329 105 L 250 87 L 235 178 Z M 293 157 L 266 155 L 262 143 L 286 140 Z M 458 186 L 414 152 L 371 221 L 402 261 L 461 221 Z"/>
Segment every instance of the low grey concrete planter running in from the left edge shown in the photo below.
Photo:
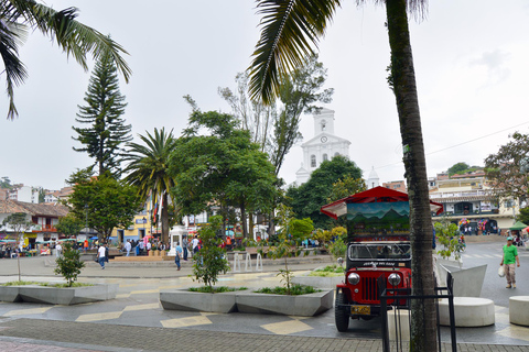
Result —
<path fill-rule="evenodd" d="M 0 286 L 0 300 L 69 306 L 115 299 L 118 286 L 116 284 L 64 288 L 37 285 Z"/>

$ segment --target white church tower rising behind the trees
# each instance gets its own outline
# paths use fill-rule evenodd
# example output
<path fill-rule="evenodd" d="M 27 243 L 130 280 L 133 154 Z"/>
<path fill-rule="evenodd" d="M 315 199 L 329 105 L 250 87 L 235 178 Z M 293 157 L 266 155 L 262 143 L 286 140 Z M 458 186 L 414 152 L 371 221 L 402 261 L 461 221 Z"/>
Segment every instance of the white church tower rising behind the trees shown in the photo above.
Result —
<path fill-rule="evenodd" d="M 322 162 L 336 155 L 349 156 L 350 142 L 334 134 L 334 110 L 323 108 L 313 119 L 314 136 L 301 145 L 303 163 L 295 173 L 298 185 L 306 183 Z"/>

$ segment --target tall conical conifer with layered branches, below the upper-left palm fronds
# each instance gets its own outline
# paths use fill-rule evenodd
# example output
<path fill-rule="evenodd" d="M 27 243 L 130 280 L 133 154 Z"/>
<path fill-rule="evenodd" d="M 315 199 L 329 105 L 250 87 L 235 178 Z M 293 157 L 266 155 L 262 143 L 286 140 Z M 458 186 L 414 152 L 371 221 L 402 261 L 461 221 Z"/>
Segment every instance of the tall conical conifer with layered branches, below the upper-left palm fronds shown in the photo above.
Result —
<path fill-rule="evenodd" d="M 132 140 L 132 127 L 121 118 L 127 103 L 119 91 L 117 66 L 109 53 L 96 63 L 84 100 L 86 106 L 78 106 L 75 121 L 86 127 L 72 127 L 78 134 L 73 139 L 83 146 L 73 148 L 95 158 L 99 175 L 108 170 L 119 176 L 125 156 L 122 145 Z"/>

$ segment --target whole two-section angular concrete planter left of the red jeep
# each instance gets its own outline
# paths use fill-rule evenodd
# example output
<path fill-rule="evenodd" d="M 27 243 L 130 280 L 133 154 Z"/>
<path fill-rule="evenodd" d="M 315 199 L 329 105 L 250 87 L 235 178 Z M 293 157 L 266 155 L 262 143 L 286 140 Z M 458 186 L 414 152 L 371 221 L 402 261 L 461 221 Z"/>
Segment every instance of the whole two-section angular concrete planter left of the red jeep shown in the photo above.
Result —
<path fill-rule="evenodd" d="M 160 302 L 163 309 L 172 310 L 313 317 L 333 308 L 334 289 L 301 296 L 256 294 L 250 290 L 202 294 L 177 289 L 161 292 Z"/>

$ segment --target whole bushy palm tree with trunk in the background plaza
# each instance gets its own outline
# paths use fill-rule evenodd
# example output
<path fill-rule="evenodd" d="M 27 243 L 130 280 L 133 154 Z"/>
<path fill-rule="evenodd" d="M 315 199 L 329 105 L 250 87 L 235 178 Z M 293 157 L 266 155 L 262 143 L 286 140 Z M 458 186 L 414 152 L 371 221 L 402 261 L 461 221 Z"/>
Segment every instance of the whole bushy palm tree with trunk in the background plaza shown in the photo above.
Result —
<path fill-rule="evenodd" d="M 160 216 L 162 221 L 162 242 L 169 243 L 168 206 L 170 190 L 174 187 L 174 179 L 169 172 L 169 158 L 176 140 L 172 130 L 165 133 L 163 128 L 160 131 L 154 129 L 154 135 L 147 132 L 147 136 L 139 134 L 139 138 L 145 145 L 137 143 L 127 144 L 130 147 L 130 154 L 126 157 L 126 161 L 130 161 L 130 163 L 125 169 L 125 173 L 129 173 L 126 182 L 138 187 L 139 196 L 142 199 L 147 200 L 149 195 L 151 195 L 152 202 L 162 198 L 162 212 Z"/>

